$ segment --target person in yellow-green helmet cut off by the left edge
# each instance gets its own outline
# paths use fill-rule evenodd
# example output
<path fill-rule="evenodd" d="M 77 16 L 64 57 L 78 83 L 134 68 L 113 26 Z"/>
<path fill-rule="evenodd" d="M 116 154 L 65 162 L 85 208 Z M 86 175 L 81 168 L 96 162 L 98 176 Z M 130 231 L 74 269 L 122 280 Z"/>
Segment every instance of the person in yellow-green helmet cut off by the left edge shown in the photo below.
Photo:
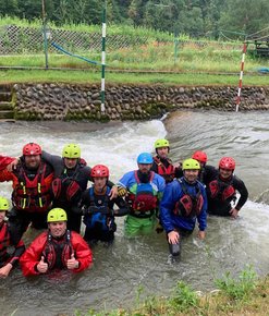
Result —
<path fill-rule="evenodd" d="M 19 258 L 25 251 L 23 241 L 16 241 L 14 239 L 5 222 L 8 210 L 8 199 L 0 196 L 0 278 L 9 276 L 10 271 L 19 263 Z M 11 247 L 14 247 L 12 252 L 10 252 Z"/>

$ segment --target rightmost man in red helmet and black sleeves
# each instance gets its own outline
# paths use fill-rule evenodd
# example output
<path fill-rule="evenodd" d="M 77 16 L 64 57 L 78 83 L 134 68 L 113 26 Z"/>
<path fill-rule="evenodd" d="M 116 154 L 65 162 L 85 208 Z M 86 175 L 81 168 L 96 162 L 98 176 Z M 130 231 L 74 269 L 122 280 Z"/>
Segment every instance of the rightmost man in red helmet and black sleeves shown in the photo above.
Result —
<path fill-rule="evenodd" d="M 240 209 L 246 203 L 247 189 L 244 182 L 233 174 L 234 169 L 235 160 L 232 157 L 220 159 L 216 179 L 210 181 L 207 186 L 209 214 L 236 218 Z M 240 193 L 237 202 L 235 202 L 236 192 Z"/>

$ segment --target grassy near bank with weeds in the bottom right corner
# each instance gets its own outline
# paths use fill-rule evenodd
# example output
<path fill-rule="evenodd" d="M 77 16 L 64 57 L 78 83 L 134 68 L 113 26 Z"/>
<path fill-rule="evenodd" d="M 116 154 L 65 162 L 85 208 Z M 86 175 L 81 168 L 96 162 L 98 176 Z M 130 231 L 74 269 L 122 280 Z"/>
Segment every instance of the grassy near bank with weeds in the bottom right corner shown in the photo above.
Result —
<path fill-rule="evenodd" d="M 212 293 L 200 294 L 180 281 L 170 297 L 148 296 L 136 307 L 88 313 L 75 312 L 76 316 L 265 316 L 269 311 L 269 278 L 257 279 L 252 267 L 241 271 L 239 278 L 225 274 L 217 281 Z M 142 291 L 140 289 L 138 290 Z M 137 300 L 137 299 L 136 299 Z M 136 301 L 135 300 L 135 301 Z"/>

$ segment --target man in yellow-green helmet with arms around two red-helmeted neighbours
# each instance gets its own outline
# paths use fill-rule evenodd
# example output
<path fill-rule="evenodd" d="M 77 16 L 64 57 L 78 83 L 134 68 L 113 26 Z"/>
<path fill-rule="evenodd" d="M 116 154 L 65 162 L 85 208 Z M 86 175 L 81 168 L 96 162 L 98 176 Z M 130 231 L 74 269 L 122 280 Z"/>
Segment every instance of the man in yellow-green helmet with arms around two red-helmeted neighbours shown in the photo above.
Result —
<path fill-rule="evenodd" d="M 81 147 L 76 144 L 68 144 L 62 149 L 62 157 L 42 151 L 42 158 L 54 169 L 54 179 L 51 184 L 53 207 L 61 207 L 68 212 L 68 228 L 81 232 L 82 209 L 80 200 L 82 193 L 87 189 L 88 181 L 93 181 L 91 168 L 81 158 Z M 118 194 L 117 186 L 111 181 L 110 196 Z"/>

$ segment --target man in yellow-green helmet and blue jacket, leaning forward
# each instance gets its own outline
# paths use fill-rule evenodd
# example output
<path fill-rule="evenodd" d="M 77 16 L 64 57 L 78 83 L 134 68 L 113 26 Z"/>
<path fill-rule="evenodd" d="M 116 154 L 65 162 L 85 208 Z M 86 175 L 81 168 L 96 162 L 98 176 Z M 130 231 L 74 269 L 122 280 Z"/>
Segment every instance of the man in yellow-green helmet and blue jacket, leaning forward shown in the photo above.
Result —
<path fill-rule="evenodd" d="M 193 232 L 196 219 L 199 239 L 205 239 L 207 227 L 206 190 L 197 180 L 200 165 L 189 158 L 183 161 L 182 169 L 184 175 L 166 186 L 160 204 L 160 219 L 172 256 L 180 255 L 182 238 Z"/>

